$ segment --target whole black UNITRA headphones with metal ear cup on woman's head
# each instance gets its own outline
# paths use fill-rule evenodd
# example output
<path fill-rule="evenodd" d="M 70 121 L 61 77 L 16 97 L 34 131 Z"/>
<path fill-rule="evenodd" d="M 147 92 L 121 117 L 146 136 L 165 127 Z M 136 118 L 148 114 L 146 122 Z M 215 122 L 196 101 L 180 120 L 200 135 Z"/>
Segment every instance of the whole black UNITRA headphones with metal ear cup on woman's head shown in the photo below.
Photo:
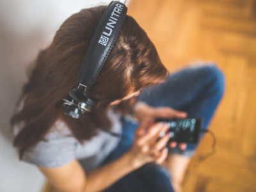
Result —
<path fill-rule="evenodd" d="M 115 44 L 127 13 L 125 4 L 111 1 L 104 11 L 83 60 L 76 87 L 63 100 L 63 112 L 73 118 L 89 113 L 97 101 L 88 93 Z"/>

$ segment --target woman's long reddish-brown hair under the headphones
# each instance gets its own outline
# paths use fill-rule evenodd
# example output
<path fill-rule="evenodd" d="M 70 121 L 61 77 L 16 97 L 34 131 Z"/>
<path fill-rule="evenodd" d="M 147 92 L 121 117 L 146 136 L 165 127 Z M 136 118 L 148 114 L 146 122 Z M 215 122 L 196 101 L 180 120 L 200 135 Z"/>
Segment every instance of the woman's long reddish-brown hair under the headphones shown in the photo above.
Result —
<path fill-rule="evenodd" d="M 154 44 L 138 23 L 129 15 L 116 38 L 113 49 L 102 67 L 90 96 L 99 100 L 91 113 L 74 119 L 63 115 L 61 99 L 76 85 L 84 55 L 106 6 L 87 8 L 69 17 L 56 32 L 51 45 L 39 52 L 29 72 L 28 82 L 16 104 L 10 123 L 21 125 L 13 145 L 20 159 L 29 147 L 44 140 L 56 120 L 68 125 L 72 134 L 83 142 L 108 131 L 111 122 L 107 115 L 109 103 L 159 83 L 168 76 Z M 129 111 L 134 98 L 121 102 L 116 110 Z"/>

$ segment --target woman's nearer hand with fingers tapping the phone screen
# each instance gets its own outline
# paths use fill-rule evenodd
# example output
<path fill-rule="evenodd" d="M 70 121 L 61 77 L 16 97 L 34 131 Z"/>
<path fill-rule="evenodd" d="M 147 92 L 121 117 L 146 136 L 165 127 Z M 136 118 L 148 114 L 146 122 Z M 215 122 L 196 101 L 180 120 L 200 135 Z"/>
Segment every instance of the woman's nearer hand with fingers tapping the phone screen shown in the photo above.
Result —
<path fill-rule="evenodd" d="M 134 132 L 134 142 L 129 153 L 136 168 L 150 161 L 161 164 L 168 155 L 166 143 L 170 139 L 169 134 L 166 134 L 160 140 L 157 140 L 157 138 L 159 138 L 161 131 L 166 132 L 168 130 L 169 125 L 162 122 L 149 125 L 149 121 L 143 121 Z"/>

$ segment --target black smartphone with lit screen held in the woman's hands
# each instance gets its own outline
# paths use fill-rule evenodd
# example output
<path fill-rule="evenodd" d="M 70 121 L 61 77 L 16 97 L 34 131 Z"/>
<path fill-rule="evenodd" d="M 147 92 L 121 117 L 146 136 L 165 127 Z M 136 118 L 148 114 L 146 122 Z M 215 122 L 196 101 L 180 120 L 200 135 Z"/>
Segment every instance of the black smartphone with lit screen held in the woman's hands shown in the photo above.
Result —
<path fill-rule="evenodd" d="M 202 131 L 202 118 L 157 118 L 156 122 L 168 122 L 170 140 L 168 143 L 175 141 L 177 143 L 198 143 L 200 132 Z M 162 138 L 165 133 L 160 133 Z"/>

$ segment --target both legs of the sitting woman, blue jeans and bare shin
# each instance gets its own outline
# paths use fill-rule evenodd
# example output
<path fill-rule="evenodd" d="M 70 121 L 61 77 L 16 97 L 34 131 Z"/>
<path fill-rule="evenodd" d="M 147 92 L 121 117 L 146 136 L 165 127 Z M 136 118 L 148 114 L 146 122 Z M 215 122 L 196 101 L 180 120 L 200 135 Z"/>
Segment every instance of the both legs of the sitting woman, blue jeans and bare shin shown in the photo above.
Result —
<path fill-rule="evenodd" d="M 166 82 L 143 90 L 139 98 L 150 106 L 170 106 L 186 111 L 188 116 L 202 116 L 204 118 L 204 129 L 206 129 L 223 94 L 223 81 L 223 75 L 215 65 L 196 68 L 188 67 L 172 74 Z M 118 145 L 119 148 L 109 156 L 106 160 L 107 162 L 113 161 L 113 159 L 124 154 L 131 147 L 132 139 L 129 139 L 129 136 L 132 136 L 131 131 L 134 131 L 137 125 L 124 120 L 123 126 L 126 138 L 122 138 L 120 142 L 122 145 Z M 182 180 L 182 175 L 194 150 L 195 146 L 191 146 L 184 151 L 179 150 L 179 148 L 170 149 L 168 168 L 172 172 L 172 182 L 176 190 L 179 189 L 180 180 Z M 161 179 L 156 182 L 157 178 Z M 163 169 L 145 165 L 136 170 L 136 172 L 125 175 L 109 190 L 125 191 L 125 189 L 129 189 L 130 191 L 136 191 L 136 189 L 131 188 L 136 186 L 138 189 L 141 188 L 140 191 L 143 191 L 143 188 L 146 191 L 150 189 L 153 191 L 155 191 L 154 189 L 172 191 L 168 178 L 170 180 L 170 177 L 166 176 Z M 155 182 L 152 182 L 152 180 Z M 147 186 L 150 186 L 150 188 L 147 189 Z"/>

